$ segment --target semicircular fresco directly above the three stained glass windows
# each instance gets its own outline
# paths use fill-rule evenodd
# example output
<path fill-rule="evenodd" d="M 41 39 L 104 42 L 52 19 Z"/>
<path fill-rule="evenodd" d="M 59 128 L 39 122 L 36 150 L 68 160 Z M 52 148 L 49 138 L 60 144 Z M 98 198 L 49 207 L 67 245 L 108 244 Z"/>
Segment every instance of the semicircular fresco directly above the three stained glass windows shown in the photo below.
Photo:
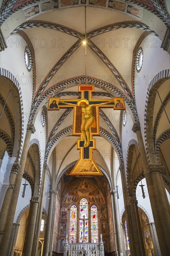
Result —
<path fill-rule="evenodd" d="M 104 197 L 98 187 L 86 181 L 72 186 L 66 194 L 64 202 L 67 204 L 79 202 L 82 196 L 87 197 L 89 202 L 105 203 Z"/>

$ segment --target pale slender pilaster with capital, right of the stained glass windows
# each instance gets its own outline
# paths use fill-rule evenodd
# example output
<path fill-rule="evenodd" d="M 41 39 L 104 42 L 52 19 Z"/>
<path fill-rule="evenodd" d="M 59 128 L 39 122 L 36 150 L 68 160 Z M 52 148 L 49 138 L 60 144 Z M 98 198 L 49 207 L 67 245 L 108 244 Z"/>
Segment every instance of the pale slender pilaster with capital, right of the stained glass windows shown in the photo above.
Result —
<path fill-rule="evenodd" d="M 118 256 L 123 256 L 123 246 L 122 246 L 122 227 L 120 224 L 120 218 L 119 218 L 119 209 L 118 209 L 118 196 L 117 192 L 114 190 L 111 190 L 111 200 L 113 204 L 113 210 L 114 210 L 114 219 L 115 219 L 115 230 L 116 233 L 116 240 L 117 243 L 117 249 L 118 249 Z"/>

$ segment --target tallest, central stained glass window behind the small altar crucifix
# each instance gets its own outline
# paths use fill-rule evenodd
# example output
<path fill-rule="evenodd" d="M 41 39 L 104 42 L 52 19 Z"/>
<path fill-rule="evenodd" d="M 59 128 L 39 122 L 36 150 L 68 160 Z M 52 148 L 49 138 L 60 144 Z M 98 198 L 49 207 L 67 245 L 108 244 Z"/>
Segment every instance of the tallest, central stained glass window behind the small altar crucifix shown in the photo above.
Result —
<path fill-rule="evenodd" d="M 85 198 L 82 198 L 80 201 L 80 219 L 83 219 L 85 216 L 85 219 L 88 219 L 88 202 Z M 83 243 L 83 221 L 80 220 L 79 222 L 79 243 Z M 85 242 L 89 242 L 89 234 L 88 234 L 88 220 L 85 220 Z"/>

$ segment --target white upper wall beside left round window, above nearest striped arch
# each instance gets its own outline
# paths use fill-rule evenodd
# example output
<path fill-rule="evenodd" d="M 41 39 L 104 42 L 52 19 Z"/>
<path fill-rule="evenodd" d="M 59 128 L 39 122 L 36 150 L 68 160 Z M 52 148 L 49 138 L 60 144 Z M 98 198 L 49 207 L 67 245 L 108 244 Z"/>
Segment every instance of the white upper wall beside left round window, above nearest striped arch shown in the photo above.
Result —
<path fill-rule="evenodd" d="M 0 53 L 0 67 L 11 72 L 20 83 L 24 108 L 24 137 L 33 94 L 33 71 L 28 72 L 26 69 L 25 47 L 25 40 L 20 35 L 13 34 L 7 39 L 7 49 Z"/>

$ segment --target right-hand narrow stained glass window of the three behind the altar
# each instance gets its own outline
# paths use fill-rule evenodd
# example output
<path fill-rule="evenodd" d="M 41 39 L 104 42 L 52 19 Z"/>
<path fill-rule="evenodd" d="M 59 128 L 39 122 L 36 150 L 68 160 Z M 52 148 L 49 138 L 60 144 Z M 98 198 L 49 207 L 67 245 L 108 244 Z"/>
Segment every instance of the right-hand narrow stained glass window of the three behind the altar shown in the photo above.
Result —
<path fill-rule="evenodd" d="M 98 209 L 95 205 L 91 207 L 91 236 L 92 243 L 98 243 Z"/>

